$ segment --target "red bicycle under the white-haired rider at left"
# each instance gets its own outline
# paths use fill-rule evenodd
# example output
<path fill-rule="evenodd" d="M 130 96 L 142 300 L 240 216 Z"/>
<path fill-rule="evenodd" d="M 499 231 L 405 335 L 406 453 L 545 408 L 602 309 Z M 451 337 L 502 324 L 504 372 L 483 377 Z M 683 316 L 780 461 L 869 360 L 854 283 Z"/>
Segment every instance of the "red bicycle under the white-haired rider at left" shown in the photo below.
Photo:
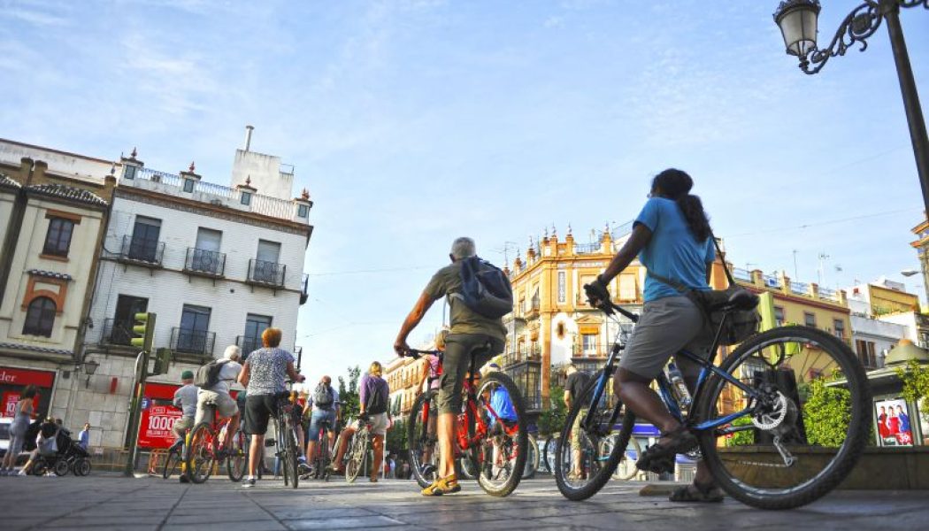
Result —
<path fill-rule="evenodd" d="M 205 418 L 193 427 L 187 436 L 187 476 L 191 483 L 203 484 L 210 479 L 214 463 L 226 463 L 229 480 L 242 481 L 248 467 L 248 455 L 244 451 L 245 434 L 237 430 L 229 438 L 229 445 L 224 445 L 226 432 L 229 430 L 229 418 L 216 421 L 216 405 L 204 404 Z M 165 461 L 165 467 L 168 462 Z"/>

